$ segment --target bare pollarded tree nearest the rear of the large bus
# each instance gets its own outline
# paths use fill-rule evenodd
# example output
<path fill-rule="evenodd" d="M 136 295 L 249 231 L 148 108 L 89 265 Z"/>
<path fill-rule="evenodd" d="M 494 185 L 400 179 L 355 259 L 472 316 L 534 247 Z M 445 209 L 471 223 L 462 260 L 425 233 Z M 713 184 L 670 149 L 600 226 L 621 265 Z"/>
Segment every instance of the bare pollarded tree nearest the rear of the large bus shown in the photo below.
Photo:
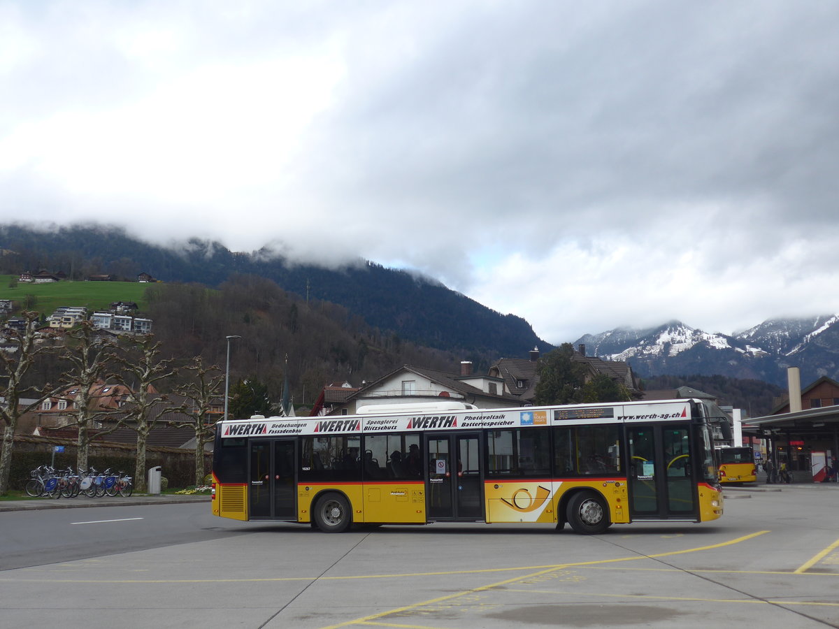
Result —
<path fill-rule="evenodd" d="M 185 369 L 193 372 L 194 377 L 177 387 L 176 391 L 185 398 L 185 403 L 172 410 L 192 420 L 175 425 L 195 430 L 195 485 L 200 486 L 204 484 L 204 447 L 212 440 L 217 421 L 211 414 L 212 405 L 219 398 L 224 373 L 216 365 L 205 367 L 201 356 L 195 356 Z"/>

